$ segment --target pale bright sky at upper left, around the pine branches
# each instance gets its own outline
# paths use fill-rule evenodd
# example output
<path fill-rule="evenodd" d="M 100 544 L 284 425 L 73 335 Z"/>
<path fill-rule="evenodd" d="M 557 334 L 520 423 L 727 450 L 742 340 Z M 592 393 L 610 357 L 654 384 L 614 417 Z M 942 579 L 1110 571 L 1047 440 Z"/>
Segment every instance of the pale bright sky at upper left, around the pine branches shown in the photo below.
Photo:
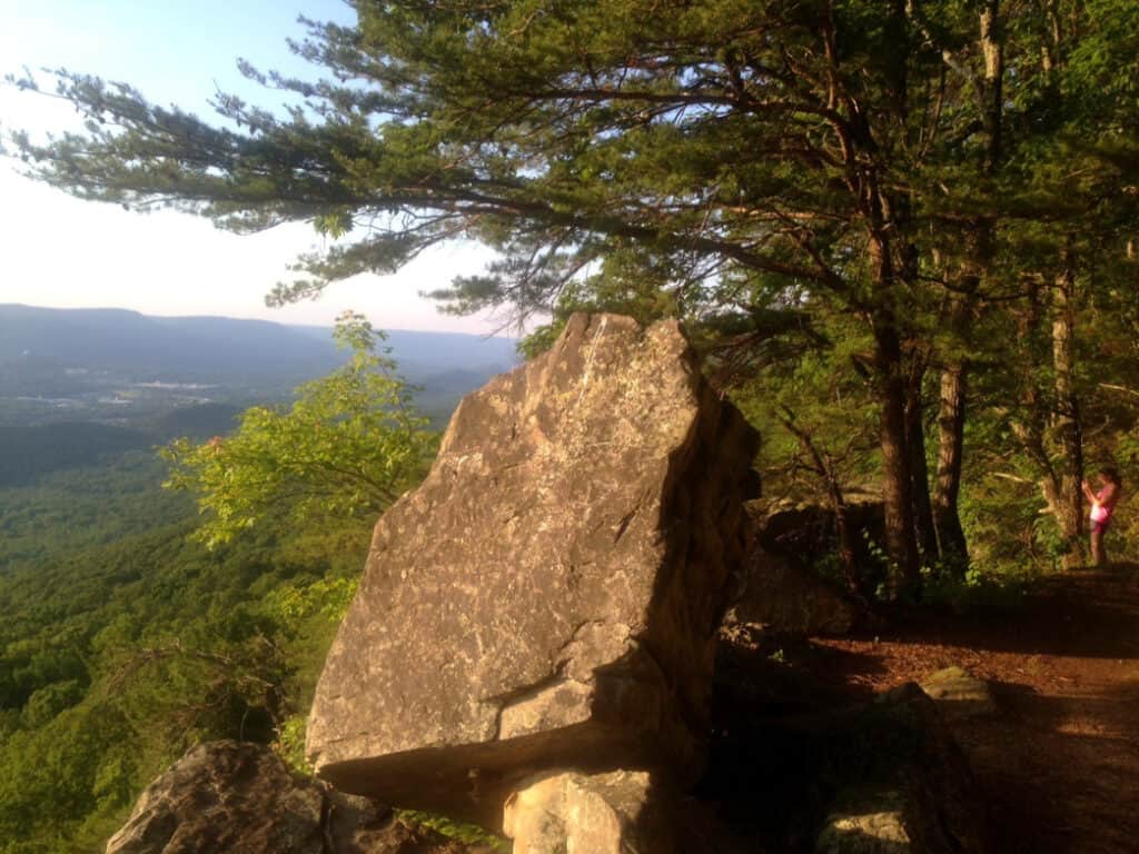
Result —
<path fill-rule="evenodd" d="M 237 58 L 318 76 L 286 43 L 303 38 L 301 14 L 353 20 L 339 0 L 0 0 L 0 76 L 65 67 L 129 82 L 154 101 L 203 117 L 219 90 L 274 107 L 284 96 L 241 77 Z M 75 122 L 67 104 L 0 85 L 0 132 L 40 136 Z M 489 334 L 501 326 L 489 317 L 442 315 L 418 296 L 478 270 L 489 253 L 477 245 L 439 247 L 395 276 L 355 277 L 316 302 L 269 309 L 264 295 L 289 278 L 289 261 L 322 245 L 311 227 L 231 235 L 188 214 L 80 202 L 22 176 L 18 165 L 0 157 L 0 303 L 320 325 L 354 310 L 386 329 Z"/>

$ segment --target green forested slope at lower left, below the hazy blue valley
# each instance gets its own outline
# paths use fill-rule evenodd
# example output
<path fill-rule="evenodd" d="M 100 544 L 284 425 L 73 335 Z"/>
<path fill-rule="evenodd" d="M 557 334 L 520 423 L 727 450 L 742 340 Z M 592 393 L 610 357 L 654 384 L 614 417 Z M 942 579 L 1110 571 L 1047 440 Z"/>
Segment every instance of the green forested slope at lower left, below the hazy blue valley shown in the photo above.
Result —
<path fill-rule="evenodd" d="M 101 851 L 197 740 L 292 733 L 300 749 L 369 526 L 210 552 L 163 468 L 133 451 L 0 491 L 5 852 Z"/>

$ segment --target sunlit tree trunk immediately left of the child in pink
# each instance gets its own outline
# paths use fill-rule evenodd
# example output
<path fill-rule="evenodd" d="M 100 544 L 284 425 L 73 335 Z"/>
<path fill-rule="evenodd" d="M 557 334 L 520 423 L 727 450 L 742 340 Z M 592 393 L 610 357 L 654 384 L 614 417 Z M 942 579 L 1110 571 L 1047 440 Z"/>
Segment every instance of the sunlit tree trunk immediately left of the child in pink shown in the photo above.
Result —
<path fill-rule="evenodd" d="M 1071 251 L 1064 254 L 1064 269 L 1052 290 L 1052 367 L 1055 394 L 1052 426 L 1059 442 L 1060 462 L 1056 467 L 1056 519 L 1070 550 L 1064 566 L 1084 561 L 1083 550 L 1083 430 L 1075 392 L 1075 270 Z"/>

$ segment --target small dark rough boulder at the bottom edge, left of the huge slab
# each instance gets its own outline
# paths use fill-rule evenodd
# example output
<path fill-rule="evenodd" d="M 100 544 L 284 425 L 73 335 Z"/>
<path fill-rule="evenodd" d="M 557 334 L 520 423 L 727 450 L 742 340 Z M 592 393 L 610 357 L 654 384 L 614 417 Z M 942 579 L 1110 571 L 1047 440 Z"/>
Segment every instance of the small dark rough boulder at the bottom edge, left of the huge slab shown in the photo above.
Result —
<path fill-rule="evenodd" d="M 147 787 L 107 843 L 107 854 L 219 852 L 476 854 L 363 798 L 296 780 L 264 747 L 237 741 L 190 749 Z"/>

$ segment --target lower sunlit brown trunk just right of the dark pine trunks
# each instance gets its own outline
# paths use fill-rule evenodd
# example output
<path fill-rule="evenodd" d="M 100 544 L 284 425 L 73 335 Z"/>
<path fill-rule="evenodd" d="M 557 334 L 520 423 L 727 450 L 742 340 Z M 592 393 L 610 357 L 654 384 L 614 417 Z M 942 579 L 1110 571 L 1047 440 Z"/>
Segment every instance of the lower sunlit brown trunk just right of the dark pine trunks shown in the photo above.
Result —
<path fill-rule="evenodd" d="M 964 361 L 945 366 L 941 372 L 937 407 L 937 484 L 933 495 L 934 525 L 942 561 L 958 573 L 969 563 L 968 543 L 957 502 L 961 491 L 961 460 L 965 445 L 965 397 L 968 368 Z"/>

